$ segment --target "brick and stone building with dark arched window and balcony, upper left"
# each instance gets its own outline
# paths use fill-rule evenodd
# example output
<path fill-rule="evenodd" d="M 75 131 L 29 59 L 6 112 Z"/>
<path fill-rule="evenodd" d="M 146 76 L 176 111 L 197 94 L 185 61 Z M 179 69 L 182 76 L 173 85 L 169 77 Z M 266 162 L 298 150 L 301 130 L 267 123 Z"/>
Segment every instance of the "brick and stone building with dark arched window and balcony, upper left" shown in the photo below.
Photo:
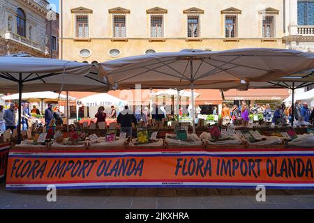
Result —
<path fill-rule="evenodd" d="M 0 0 L 0 55 L 49 57 L 46 0 Z"/>

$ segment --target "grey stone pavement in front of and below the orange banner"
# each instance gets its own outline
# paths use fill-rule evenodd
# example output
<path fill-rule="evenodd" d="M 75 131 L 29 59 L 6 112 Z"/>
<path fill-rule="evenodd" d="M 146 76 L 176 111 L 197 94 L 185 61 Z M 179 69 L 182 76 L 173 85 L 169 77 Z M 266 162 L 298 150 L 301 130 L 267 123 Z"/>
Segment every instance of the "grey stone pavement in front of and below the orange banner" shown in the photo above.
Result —
<path fill-rule="evenodd" d="M 314 209 L 314 190 L 267 190 L 265 202 L 257 202 L 256 193 L 251 189 L 57 190 L 57 202 L 47 202 L 46 191 L 7 191 L 1 180 L 0 209 Z"/>

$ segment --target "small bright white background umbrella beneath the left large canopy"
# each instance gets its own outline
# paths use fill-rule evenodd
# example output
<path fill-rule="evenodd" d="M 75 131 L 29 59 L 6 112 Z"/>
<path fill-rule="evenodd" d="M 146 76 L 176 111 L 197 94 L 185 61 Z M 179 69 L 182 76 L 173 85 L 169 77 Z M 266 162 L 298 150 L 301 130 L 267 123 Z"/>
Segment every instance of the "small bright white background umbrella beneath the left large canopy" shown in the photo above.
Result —
<path fill-rule="evenodd" d="M 7 95 L 2 97 L 2 100 L 18 100 L 19 94 L 15 93 L 13 95 Z M 51 100 L 69 100 L 75 101 L 74 97 L 68 97 L 68 95 L 63 95 L 60 93 L 54 93 L 52 91 L 41 91 L 41 92 L 29 92 L 22 93 L 22 100 L 28 100 L 29 102 L 41 102 L 41 113 L 43 113 L 43 101 L 51 101 Z"/>

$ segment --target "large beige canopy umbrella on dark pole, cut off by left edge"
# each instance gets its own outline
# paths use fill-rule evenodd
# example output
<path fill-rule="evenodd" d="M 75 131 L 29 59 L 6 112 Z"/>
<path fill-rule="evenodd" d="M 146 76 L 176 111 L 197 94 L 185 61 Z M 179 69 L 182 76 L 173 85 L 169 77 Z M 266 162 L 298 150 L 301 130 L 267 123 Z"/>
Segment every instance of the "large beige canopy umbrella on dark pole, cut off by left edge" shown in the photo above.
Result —
<path fill-rule="evenodd" d="M 22 91 L 107 91 L 107 83 L 88 63 L 36 57 L 0 56 L 0 92 L 19 93 L 18 143 L 21 141 Z"/>

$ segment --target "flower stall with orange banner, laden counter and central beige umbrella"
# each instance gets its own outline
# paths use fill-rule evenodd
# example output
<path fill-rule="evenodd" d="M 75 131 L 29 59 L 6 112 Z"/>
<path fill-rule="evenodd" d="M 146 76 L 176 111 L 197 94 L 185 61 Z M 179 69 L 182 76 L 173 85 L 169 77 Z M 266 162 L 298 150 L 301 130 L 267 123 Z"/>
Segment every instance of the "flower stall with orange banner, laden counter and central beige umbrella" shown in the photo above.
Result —
<path fill-rule="evenodd" d="M 109 61 L 100 76 L 112 89 L 190 86 L 193 102 L 194 88 L 246 89 L 250 82 L 313 66 L 313 55 L 283 49 L 193 50 Z M 133 126 L 132 137 L 114 124 L 74 123 L 69 129 L 65 134 L 48 126 L 13 145 L 6 188 L 314 188 L 314 134 L 308 127 L 195 126 L 163 119 Z"/>

